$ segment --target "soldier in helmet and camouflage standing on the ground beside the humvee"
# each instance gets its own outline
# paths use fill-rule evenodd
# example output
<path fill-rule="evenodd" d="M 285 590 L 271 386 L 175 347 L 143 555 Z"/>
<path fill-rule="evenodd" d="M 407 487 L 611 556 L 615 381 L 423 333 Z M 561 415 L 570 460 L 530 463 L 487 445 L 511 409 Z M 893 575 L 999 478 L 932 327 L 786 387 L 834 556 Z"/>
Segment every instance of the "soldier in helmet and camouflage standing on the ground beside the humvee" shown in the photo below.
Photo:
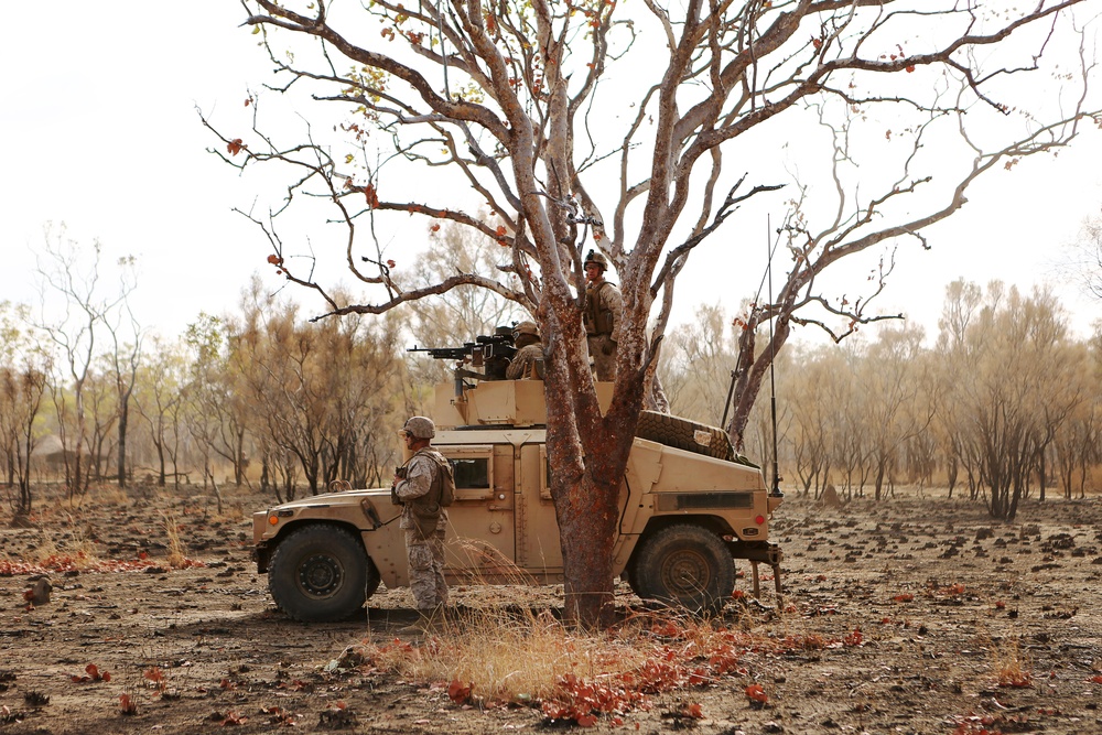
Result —
<path fill-rule="evenodd" d="M 421 624 L 447 604 L 444 581 L 444 531 L 447 512 L 443 498 L 447 460 L 432 448 L 436 428 L 431 419 L 412 417 L 402 429 L 406 447 L 413 452 L 391 486 L 396 502 L 402 506 L 399 528 L 406 530 L 406 555 L 409 561 L 410 588 L 417 601 Z"/>

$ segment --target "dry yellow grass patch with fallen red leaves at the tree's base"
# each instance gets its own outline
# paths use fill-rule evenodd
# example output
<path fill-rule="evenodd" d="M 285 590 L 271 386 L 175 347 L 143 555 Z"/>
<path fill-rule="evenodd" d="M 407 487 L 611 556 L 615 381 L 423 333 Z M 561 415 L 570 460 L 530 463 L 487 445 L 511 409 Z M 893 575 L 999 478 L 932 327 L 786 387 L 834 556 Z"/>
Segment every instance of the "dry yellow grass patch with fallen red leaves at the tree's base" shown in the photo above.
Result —
<path fill-rule="evenodd" d="M 493 548 L 465 543 L 457 550 L 494 582 L 530 583 Z M 354 666 L 369 661 L 408 681 L 450 683 L 464 699 L 540 702 L 552 720 L 576 720 L 591 711 L 631 709 L 656 692 L 745 675 L 756 651 L 782 645 L 754 627 L 745 608 L 730 627 L 663 609 L 629 612 L 609 630 L 583 631 L 568 629 L 549 609 L 495 605 L 441 616 L 420 644 L 365 644 L 346 657 Z M 791 636 L 781 638 L 791 645 Z"/>

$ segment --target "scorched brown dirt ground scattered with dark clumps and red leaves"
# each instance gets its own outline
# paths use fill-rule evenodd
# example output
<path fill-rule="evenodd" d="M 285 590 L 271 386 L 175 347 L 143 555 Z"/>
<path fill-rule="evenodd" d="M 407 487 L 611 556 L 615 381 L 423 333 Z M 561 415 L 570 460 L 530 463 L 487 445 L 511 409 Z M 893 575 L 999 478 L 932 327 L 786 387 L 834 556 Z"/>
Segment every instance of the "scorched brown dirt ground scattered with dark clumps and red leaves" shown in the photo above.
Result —
<path fill-rule="evenodd" d="M 408 591 L 380 590 L 361 619 L 293 623 L 249 560 L 248 514 L 263 501 L 230 504 L 216 515 L 207 498 L 43 502 L 30 529 L 0 510 L 0 735 L 573 726 L 536 706 L 456 704 L 446 682 L 334 669 L 348 646 L 392 640 L 413 620 Z M 197 565 L 168 563 L 166 512 Z M 652 694 L 593 729 L 1102 733 L 1100 517 L 1098 498 L 1028 501 L 1002 523 L 946 498 L 818 507 L 790 494 L 771 533 L 786 555 L 785 598 L 733 601 L 712 625 L 804 645 L 746 649 L 730 673 Z M 41 569 L 31 561 L 54 585 L 33 607 L 24 591 Z M 625 610 L 638 606 L 622 592 Z M 453 602 L 554 606 L 555 593 L 463 587 Z"/>

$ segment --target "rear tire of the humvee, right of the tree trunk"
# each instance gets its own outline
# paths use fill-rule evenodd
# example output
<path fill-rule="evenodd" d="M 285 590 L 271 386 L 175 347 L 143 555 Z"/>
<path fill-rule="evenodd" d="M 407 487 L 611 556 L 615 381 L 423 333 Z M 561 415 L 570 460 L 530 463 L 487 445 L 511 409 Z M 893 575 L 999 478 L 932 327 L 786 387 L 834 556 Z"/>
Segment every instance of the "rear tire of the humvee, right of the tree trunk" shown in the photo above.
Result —
<path fill-rule="evenodd" d="M 735 562 L 715 533 L 678 523 L 644 541 L 628 583 L 644 599 L 716 613 L 734 592 Z"/>

